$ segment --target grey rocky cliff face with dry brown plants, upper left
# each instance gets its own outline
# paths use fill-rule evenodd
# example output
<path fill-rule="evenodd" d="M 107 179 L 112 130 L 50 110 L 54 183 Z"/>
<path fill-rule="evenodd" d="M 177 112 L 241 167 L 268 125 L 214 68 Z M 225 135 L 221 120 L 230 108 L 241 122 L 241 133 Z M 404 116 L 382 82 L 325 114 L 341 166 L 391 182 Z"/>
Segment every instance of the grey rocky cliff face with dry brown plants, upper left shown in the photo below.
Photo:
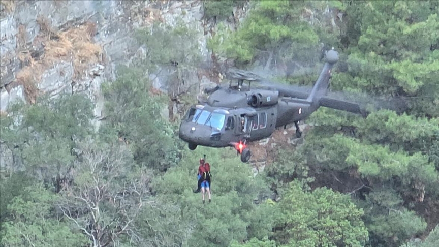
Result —
<path fill-rule="evenodd" d="M 226 20 L 229 28 L 236 28 L 247 8 L 244 5 L 234 9 L 233 17 Z M 310 23 L 316 21 L 311 11 L 306 13 L 304 18 Z M 32 104 L 41 94 L 56 97 L 62 92 L 84 93 L 95 104 L 95 124 L 99 126 L 103 115 L 101 84 L 116 78 L 118 65 L 129 66 L 144 54 L 144 47 L 133 38 L 135 30 L 157 20 L 172 26 L 179 18 L 197 29 L 194 38 L 199 42 L 204 63 L 209 64 L 206 40 L 213 33 L 213 25 L 203 16 L 201 0 L 2 1 L 0 113 L 7 113 L 8 107 L 17 101 Z M 335 15 L 329 16 L 334 22 Z M 207 74 L 190 72 L 185 75 L 185 86 L 211 86 L 212 78 Z M 166 70 L 150 79 L 154 87 L 166 91 Z M 2 151 L 2 161 L 11 160 L 8 153 Z M 263 164 L 264 157 L 255 156 L 255 160 L 262 160 Z"/>

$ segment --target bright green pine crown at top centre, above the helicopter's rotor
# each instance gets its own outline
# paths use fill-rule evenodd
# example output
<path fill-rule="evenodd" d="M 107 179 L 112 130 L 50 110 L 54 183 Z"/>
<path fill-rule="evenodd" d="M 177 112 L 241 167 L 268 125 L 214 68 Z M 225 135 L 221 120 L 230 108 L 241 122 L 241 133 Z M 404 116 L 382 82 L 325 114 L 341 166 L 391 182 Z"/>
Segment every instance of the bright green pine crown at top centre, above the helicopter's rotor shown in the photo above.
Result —
<path fill-rule="evenodd" d="M 266 52 L 276 52 L 284 60 L 300 57 L 319 39 L 312 27 L 299 18 L 303 6 L 302 1 L 259 1 L 237 32 L 218 32 L 209 48 L 239 63 L 248 63 Z M 288 48 L 278 49 L 287 43 Z"/>

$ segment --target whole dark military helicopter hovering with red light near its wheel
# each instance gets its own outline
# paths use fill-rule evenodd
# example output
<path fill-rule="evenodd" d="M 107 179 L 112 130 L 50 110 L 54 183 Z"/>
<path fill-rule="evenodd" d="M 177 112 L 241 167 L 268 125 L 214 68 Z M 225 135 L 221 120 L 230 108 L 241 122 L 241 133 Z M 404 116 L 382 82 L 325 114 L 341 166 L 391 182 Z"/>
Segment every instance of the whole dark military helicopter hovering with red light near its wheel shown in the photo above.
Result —
<path fill-rule="evenodd" d="M 190 150 L 197 146 L 234 147 L 242 162 L 251 156 L 247 143 L 268 138 L 278 127 L 294 123 L 300 138 L 299 121 L 319 107 L 366 115 L 359 104 L 325 97 L 332 77 L 331 69 L 338 61 L 333 48 L 326 52 L 326 62 L 315 85 L 309 89 L 270 87 L 250 88 L 252 76 L 243 76 L 237 86 L 211 90 L 206 102 L 192 106 L 181 121 L 179 138 Z M 245 87 L 243 81 L 248 80 Z"/>

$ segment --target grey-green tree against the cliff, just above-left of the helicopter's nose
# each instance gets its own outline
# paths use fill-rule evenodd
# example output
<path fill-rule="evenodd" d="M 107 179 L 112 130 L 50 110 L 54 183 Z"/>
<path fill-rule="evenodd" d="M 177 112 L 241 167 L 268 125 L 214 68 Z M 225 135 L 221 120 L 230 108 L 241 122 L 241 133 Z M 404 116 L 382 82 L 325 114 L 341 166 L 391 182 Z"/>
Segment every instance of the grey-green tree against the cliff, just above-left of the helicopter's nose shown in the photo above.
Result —
<path fill-rule="evenodd" d="M 155 22 L 136 33 L 137 42 L 145 47 L 145 56 L 136 59 L 135 65 L 147 75 L 161 78 L 160 86 L 168 92 L 171 121 L 174 121 L 174 102 L 178 104 L 184 94 L 196 91 L 197 84 L 186 83 L 193 80 L 193 72 L 198 70 L 202 58 L 200 45 L 194 38 L 198 35 L 196 30 L 194 24 L 176 18 L 173 26 Z"/>

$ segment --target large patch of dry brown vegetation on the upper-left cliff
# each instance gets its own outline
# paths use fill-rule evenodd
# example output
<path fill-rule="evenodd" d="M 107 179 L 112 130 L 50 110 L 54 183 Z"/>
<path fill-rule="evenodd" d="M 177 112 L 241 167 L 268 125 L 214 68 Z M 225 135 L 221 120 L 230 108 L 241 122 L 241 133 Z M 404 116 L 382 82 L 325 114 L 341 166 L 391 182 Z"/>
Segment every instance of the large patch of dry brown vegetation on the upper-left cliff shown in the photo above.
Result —
<path fill-rule="evenodd" d="M 56 61 L 72 61 L 74 79 L 77 79 L 90 64 L 100 60 L 102 51 L 101 46 L 93 43 L 93 36 L 96 34 L 95 23 L 87 22 L 65 32 L 58 32 L 45 17 L 38 17 L 37 22 L 41 30 L 34 39 L 34 45 L 40 43 L 44 47 L 44 54 L 33 58 L 28 49 L 21 49 L 18 57 L 26 66 L 16 75 L 17 83 L 23 85 L 27 100 L 31 104 L 39 94 L 37 83 L 40 82 L 42 73 Z M 25 39 L 20 32 L 17 35 L 19 40 Z"/>

